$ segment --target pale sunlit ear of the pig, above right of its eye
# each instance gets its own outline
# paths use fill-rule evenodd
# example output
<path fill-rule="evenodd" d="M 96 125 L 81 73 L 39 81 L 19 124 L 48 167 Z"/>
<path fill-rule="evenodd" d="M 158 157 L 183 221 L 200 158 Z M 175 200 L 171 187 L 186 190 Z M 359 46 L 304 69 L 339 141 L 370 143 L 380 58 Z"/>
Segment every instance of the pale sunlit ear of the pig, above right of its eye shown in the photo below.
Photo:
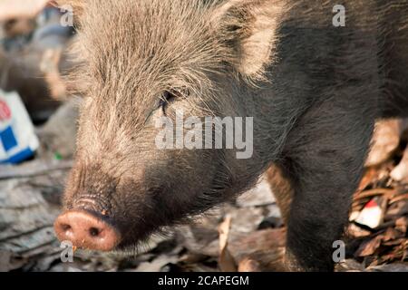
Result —
<path fill-rule="evenodd" d="M 282 1 L 228 0 L 215 8 L 212 21 L 222 42 L 233 51 L 228 60 L 238 73 L 260 79 L 273 60 L 277 26 L 283 14 Z"/>

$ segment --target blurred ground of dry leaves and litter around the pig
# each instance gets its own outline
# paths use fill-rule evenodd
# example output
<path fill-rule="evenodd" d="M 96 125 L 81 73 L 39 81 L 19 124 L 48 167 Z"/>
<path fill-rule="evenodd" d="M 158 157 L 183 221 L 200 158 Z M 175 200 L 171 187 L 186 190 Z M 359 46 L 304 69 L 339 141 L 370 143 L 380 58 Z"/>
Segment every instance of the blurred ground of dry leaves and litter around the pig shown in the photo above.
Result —
<path fill-rule="evenodd" d="M 75 40 L 67 13 L 47 0 L 0 0 L 0 271 L 281 270 L 285 227 L 264 179 L 193 225 L 151 237 L 137 254 L 62 258 L 53 219 L 81 102 L 63 82 Z M 408 271 L 407 128 L 403 120 L 377 124 L 337 271 Z"/>

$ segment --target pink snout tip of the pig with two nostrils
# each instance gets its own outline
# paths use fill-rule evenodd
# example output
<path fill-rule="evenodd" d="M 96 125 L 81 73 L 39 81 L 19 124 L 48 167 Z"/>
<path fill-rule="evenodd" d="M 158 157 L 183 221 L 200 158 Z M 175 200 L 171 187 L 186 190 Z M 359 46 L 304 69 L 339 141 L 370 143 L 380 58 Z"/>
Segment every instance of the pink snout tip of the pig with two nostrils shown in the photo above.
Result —
<path fill-rule="evenodd" d="M 71 241 L 73 247 L 112 251 L 121 243 L 119 232 L 90 212 L 69 210 L 54 223 L 55 234 L 60 241 Z"/>

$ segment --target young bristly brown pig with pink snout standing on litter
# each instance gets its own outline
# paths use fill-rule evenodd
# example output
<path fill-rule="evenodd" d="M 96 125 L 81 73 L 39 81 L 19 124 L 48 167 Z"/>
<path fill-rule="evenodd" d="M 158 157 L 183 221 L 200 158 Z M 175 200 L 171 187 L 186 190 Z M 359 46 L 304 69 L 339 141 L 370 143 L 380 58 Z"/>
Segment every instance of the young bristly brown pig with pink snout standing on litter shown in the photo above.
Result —
<path fill-rule="evenodd" d="M 57 237 L 134 248 L 267 172 L 287 270 L 333 271 L 374 121 L 408 107 L 408 1 L 342 3 L 62 1 L 78 19 L 83 104 Z M 156 122 L 177 111 L 253 117 L 252 156 L 159 150 Z"/>

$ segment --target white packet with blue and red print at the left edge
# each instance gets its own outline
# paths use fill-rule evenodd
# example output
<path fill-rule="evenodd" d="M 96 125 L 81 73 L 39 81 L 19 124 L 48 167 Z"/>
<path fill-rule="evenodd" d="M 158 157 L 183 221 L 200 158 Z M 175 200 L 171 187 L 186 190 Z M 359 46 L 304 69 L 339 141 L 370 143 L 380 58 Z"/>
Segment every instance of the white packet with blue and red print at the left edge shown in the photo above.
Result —
<path fill-rule="evenodd" d="M 34 125 L 20 96 L 0 90 L 0 164 L 27 160 L 38 146 Z"/>

